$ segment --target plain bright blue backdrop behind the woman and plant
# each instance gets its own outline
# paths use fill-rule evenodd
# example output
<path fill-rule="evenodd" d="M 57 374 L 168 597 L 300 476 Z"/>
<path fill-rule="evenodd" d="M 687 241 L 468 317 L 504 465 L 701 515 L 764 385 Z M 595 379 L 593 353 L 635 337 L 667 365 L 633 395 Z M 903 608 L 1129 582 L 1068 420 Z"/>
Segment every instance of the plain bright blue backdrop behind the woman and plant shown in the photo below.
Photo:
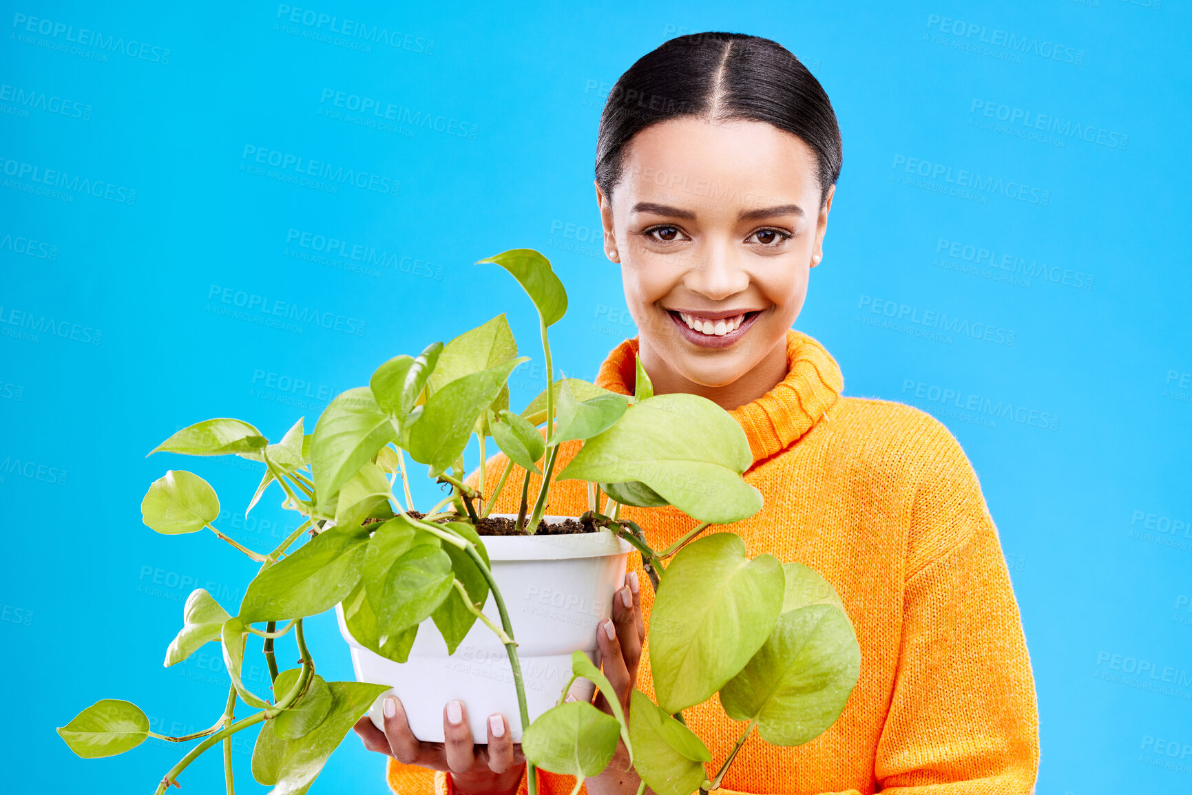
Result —
<path fill-rule="evenodd" d="M 176 428 L 234 416 L 277 439 L 305 416 L 309 429 L 385 359 L 497 311 L 538 358 L 529 303 L 471 265 L 508 248 L 542 250 L 567 286 L 552 334 L 567 374 L 594 377 L 634 334 L 592 237 L 596 125 L 634 60 L 701 30 L 775 38 L 832 98 L 844 170 L 796 328 L 837 358 L 845 395 L 931 411 L 970 456 L 1031 652 L 1039 791 L 1192 789 L 1184 4 L 313 10 L 396 31 L 397 46 L 336 41 L 277 5 L 123 5 L 5 2 L 0 15 L 0 732 L 20 762 L 10 791 L 48 780 L 145 789 L 181 756 L 149 741 L 75 758 L 54 727 L 94 700 L 129 698 L 169 734 L 222 710 L 216 646 L 160 660 L 190 590 L 235 604 L 253 564 L 206 533 L 154 534 L 141 497 L 185 467 L 216 486 L 218 524 L 250 547 L 273 548 L 296 522 L 273 492 L 243 522 L 260 477 L 248 461 L 145 459 Z M 103 39 L 72 44 L 67 29 Z M 393 104 L 398 120 L 360 124 L 374 117 L 336 108 L 335 92 Z M 260 164 L 257 151 L 377 175 L 390 193 L 296 185 L 293 167 Z M 961 169 L 986 187 L 957 191 Z M 72 190 L 76 176 L 100 195 Z M 316 250 L 331 238 L 346 243 Z M 979 262 L 977 249 L 995 254 Z M 254 296 L 331 328 L 265 325 L 272 316 L 236 305 Z M 923 336 L 926 311 L 1013 344 Z M 514 403 L 544 385 L 523 366 Z M 331 614 L 310 625 L 321 673 L 352 678 Z M 248 665 L 259 677 L 260 657 Z M 243 791 L 259 789 L 250 741 L 237 745 Z M 186 791 L 222 791 L 207 756 Z M 386 791 L 381 769 L 349 737 L 315 791 Z"/>

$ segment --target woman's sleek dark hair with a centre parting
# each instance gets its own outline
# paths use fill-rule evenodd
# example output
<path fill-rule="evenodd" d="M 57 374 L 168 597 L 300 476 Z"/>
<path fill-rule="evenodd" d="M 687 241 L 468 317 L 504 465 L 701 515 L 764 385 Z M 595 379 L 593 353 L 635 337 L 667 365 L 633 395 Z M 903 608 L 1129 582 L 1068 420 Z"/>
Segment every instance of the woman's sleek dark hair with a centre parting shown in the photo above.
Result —
<path fill-rule="evenodd" d="M 613 194 L 633 136 L 687 116 L 765 122 L 797 136 L 815 153 L 821 206 L 840 176 L 840 126 L 815 76 L 777 42 L 714 31 L 664 42 L 613 86 L 596 139 L 601 191 Z"/>

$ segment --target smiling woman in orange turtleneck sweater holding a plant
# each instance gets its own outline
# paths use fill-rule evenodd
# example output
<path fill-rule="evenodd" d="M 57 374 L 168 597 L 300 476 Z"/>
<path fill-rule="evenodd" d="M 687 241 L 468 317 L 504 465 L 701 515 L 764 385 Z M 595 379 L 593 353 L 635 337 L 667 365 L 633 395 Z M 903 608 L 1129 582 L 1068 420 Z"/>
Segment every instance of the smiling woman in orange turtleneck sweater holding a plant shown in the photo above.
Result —
<path fill-rule="evenodd" d="M 976 473 L 930 415 L 842 396 L 836 360 L 791 328 L 811 268 L 824 259 L 840 163 L 824 88 L 782 45 L 755 36 L 666 42 L 621 76 L 601 118 L 595 181 L 604 249 L 620 263 L 640 335 L 611 352 L 597 383 L 633 395 L 640 361 L 654 395 L 694 393 L 730 410 L 752 453 L 745 480 L 765 499 L 731 529 L 750 555 L 770 553 L 820 572 L 839 592 L 861 647 L 856 689 L 815 739 L 751 734 L 752 721 L 734 720 L 741 713 L 732 698 L 684 709 L 683 719 L 708 739 L 718 764 L 735 760 L 727 774 L 727 763 L 709 771 L 707 789 L 1025 795 L 1039 757 L 1035 683 Z M 576 449 L 560 446 L 559 464 Z M 497 455 L 488 466 L 499 471 L 505 462 Z M 514 467 L 515 478 L 522 473 Z M 538 489 L 536 478 L 529 483 Z M 559 483 L 551 513 L 578 514 L 586 498 L 575 482 Z M 503 496 L 495 509 L 515 510 L 515 499 Z M 693 532 L 672 508 L 626 505 L 620 516 L 662 546 Z M 634 691 L 657 695 L 654 598 L 637 586 L 650 573 L 632 563 L 615 633 L 614 623 L 597 629 L 604 676 L 631 725 L 646 718 L 629 709 L 645 703 Z M 597 706 L 610 709 L 603 695 Z M 447 737 L 461 725 L 462 707 L 447 706 Z M 358 731 L 395 757 L 396 793 L 526 791 L 520 747 L 508 737 L 495 733 L 489 746 L 474 747 L 470 733 L 454 744 L 420 744 L 401 704 L 387 715 L 384 734 L 371 723 Z M 501 715 L 492 720 L 505 725 Z M 579 789 L 640 795 L 644 784 L 628 763 L 622 744 Z M 576 785 L 573 777 L 538 776 L 539 790 L 551 795 Z"/>

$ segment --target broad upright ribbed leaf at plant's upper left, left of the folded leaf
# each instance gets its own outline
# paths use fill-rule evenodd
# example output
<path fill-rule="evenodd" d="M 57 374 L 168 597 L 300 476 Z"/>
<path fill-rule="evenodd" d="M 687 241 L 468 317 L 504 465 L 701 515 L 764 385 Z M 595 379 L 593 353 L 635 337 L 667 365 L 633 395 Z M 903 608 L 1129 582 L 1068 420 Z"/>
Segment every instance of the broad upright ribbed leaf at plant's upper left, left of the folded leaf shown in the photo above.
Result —
<path fill-rule="evenodd" d="M 397 437 L 367 386 L 336 396 L 315 426 L 310 445 L 315 491 L 324 503 L 381 447 Z"/>

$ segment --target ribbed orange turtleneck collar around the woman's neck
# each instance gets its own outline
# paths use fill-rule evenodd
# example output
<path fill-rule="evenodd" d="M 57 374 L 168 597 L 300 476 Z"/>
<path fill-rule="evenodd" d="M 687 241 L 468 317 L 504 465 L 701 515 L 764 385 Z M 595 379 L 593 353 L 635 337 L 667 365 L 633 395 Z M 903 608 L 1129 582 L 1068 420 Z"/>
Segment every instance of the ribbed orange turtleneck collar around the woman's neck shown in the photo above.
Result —
<path fill-rule="evenodd" d="M 596 384 L 611 392 L 633 395 L 637 380 L 638 340 L 626 340 L 608 355 Z M 787 377 L 758 399 L 728 414 L 749 439 L 753 461 L 788 448 L 825 417 L 840 390 L 844 375 L 832 355 L 815 339 L 787 331 Z"/>

